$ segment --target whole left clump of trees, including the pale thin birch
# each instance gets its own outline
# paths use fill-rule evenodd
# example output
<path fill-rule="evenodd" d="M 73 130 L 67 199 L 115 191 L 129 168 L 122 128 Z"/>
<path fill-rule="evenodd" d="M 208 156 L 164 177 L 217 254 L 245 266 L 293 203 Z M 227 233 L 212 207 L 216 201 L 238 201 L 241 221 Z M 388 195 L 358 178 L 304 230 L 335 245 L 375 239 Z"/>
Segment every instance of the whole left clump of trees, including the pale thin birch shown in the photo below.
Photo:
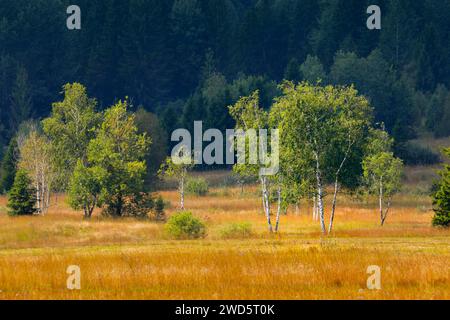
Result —
<path fill-rule="evenodd" d="M 23 174 L 29 175 L 36 213 L 47 212 L 52 192 L 67 191 L 69 204 L 83 210 L 85 218 L 99 207 L 113 217 L 147 217 L 155 211 L 162 220 L 164 202 L 147 193 L 144 184 L 146 160 L 153 160 L 151 138 L 142 132 L 150 131 L 149 126 L 139 131 L 127 100 L 99 112 L 83 85 L 67 84 L 63 92 L 64 100 L 53 104 L 51 116 L 29 123 L 15 140 L 16 178 L 24 184 Z"/>

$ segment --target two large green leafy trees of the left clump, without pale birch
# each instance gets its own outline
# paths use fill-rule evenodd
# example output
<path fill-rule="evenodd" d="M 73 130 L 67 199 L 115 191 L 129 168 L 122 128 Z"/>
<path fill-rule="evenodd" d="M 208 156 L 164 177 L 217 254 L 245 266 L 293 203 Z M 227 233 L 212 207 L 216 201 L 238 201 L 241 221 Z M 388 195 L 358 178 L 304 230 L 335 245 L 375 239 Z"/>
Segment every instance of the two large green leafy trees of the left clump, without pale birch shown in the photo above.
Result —
<path fill-rule="evenodd" d="M 113 215 L 126 214 L 125 200 L 143 190 L 150 140 L 138 134 L 127 101 L 119 101 L 102 117 L 83 86 L 66 85 L 65 90 L 65 100 L 54 104 L 44 128 L 61 154 L 58 163 L 66 165 L 65 170 L 76 163 L 70 173 L 69 203 L 74 209 L 83 209 L 85 217 L 103 204 Z M 62 130 L 61 136 L 58 130 Z"/>

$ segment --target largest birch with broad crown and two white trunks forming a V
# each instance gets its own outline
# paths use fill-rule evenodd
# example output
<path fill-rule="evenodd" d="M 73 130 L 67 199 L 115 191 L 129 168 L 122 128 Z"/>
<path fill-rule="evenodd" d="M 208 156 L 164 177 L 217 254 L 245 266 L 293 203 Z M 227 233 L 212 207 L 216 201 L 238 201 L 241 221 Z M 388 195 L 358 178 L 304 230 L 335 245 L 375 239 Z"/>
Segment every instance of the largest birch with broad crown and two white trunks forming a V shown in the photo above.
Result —
<path fill-rule="evenodd" d="M 322 233 L 331 233 L 341 184 L 351 185 L 362 170 L 361 150 L 372 108 L 353 87 L 285 82 L 282 89 L 272 111 L 279 119 L 282 163 L 297 163 L 306 179 L 314 176 Z M 328 182 L 334 188 L 327 229 L 324 197 Z"/>

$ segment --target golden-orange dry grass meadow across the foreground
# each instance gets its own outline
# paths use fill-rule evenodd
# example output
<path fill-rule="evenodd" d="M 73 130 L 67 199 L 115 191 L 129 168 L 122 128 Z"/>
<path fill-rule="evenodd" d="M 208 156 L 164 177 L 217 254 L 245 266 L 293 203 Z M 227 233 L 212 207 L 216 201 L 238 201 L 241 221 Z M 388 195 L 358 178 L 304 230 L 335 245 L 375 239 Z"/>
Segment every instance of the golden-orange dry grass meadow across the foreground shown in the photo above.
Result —
<path fill-rule="evenodd" d="M 176 211 L 177 194 L 162 195 Z M 202 240 L 168 239 L 162 224 L 98 215 L 83 221 L 60 197 L 47 216 L 10 218 L 0 198 L 0 299 L 450 299 L 450 230 L 431 227 L 424 195 L 401 195 L 386 226 L 375 201 L 341 197 L 335 231 L 322 237 L 302 204 L 268 234 L 256 188 L 188 197 L 207 223 Z M 230 223 L 252 234 L 224 239 Z M 69 265 L 81 290 L 66 288 Z M 381 268 L 368 290 L 367 267 Z"/>

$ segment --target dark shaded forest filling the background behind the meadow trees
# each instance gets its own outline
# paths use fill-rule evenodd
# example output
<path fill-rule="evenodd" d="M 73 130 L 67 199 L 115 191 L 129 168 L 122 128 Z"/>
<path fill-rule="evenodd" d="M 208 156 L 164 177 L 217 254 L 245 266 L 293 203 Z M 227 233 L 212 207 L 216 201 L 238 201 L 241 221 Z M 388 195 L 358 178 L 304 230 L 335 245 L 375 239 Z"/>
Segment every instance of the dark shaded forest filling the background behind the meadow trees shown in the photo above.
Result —
<path fill-rule="evenodd" d="M 349 85 L 374 107 L 406 163 L 433 162 L 406 141 L 450 135 L 449 0 L 67 0 L 0 4 L 0 150 L 20 124 L 43 119 L 65 83 L 106 109 L 128 96 L 166 134 L 193 120 L 235 125 L 226 106 L 259 90 L 268 108 L 283 79 Z M 412 155 L 411 155 L 412 154 Z M 419 158 L 419 160 L 417 160 Z"/>

